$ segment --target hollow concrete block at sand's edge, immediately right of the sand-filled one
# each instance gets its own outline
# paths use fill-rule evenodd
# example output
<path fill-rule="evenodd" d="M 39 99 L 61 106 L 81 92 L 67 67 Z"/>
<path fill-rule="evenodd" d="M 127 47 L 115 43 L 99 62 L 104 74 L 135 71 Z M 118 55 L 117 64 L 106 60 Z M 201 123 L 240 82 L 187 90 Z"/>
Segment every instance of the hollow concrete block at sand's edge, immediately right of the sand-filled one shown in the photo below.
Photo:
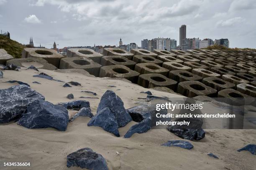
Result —
<path fill-rule="evenodd" d="M 99 75 L 100 67 L 100 64 L 86 57 L 65 57 L 61 59 L 59 64 L 60 69 L 83 69 L 96 77 Z"/>

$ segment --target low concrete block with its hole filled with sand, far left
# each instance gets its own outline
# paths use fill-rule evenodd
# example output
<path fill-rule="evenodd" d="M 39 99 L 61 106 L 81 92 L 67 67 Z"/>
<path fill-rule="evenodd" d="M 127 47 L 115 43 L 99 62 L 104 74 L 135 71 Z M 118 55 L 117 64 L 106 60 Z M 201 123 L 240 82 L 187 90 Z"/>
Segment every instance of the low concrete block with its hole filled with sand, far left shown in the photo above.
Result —
<path fill-rule="evenodd" d="M 6 63 L 17 65 L 18 67 L 30 67 L 33 65 L 36 68 L 46 69 L 46 70 L 56 70 L 57 67 L 48 63 L 42 58 L 30 57 L 30 58 L 15 58 L 8 60 Z"/>

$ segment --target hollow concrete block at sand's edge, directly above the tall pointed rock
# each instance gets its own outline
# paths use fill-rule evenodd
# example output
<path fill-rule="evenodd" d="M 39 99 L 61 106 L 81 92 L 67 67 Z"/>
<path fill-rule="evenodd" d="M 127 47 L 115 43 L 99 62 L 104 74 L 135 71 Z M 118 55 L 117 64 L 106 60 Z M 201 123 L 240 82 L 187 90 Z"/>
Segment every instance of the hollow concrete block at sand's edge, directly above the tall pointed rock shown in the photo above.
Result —
<path fill-rule="evenodd" d="M 140 73 L 131 70 L 124 65 L 107 65 L 100 68 L 99 77 L 118 77 L 136 83 Z"/>

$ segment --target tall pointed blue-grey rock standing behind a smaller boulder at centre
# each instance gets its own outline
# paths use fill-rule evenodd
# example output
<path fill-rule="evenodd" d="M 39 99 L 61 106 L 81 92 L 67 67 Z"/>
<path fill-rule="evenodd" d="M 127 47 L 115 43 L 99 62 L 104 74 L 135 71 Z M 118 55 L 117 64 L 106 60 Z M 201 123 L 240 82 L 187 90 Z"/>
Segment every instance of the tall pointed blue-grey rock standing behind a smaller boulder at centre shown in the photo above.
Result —
<path fill-rule="evenodd" d="M 118 122 L 118 128 L 124 127 L 131 122 L 132 118 L 123 106 L 123 101 L 118 97 L 115 92 L 107 90 L 100 99 L 100 104 L 97 108 L 97 113 L 100 110 L 108 107 L 115 115 L 115 120 Z"/>

